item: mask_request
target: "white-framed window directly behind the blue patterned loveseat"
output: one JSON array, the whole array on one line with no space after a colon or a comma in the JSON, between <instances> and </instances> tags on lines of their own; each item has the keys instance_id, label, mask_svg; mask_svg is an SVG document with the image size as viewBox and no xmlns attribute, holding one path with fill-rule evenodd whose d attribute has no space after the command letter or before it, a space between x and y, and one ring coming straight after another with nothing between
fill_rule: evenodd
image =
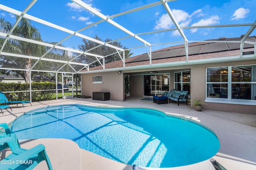
<instances>
[{"instance_id":1,"label":"white-framed window directly behind the blue patterned loveseat","mask_svg":"<svg viewBox=\"0 0 256 170\"><path fill-rule=\"evenodd\" d=\"M190 97L190 71L174 72L174 89L186 90Z\"/></svg>"}]
</instances>

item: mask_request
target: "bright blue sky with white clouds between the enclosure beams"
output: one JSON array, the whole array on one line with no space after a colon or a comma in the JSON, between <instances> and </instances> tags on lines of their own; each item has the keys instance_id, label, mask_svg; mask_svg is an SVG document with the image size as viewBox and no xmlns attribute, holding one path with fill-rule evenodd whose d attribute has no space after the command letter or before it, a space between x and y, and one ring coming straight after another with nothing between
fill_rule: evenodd
<instances>
[{"instance_id":1,"label":"bright blue sky with white clouds between the enclosure beams","mask_svg":"<svg viewBox=\"0 0 256 170\"><path fill-rule=\"evenodd\" d=\"M138 8L146 4L158 2L157 0L84 0L87 4L98 10L105 16L112 16L120 12ZM0 4L23 11L30 0L0 0ZM255 0L177 0L168 2L180 27L198 25L226 25L239 23L254 23L256 20ZM77 6L68 0L38 0L27 12L32 16L60 25L72 31L86 27L100 18ZM15 22L15 16L5 11L0 11L0 17L11 23ZM154 6L124 16L112 18L132 33L144 33L163 29L172 29L174 24L170 20L162 5ZM42 39L47 42L58 42L68 36L68 33L50 28L46 25L32 23L40 30ZM249 27L227 28L201 28L183 29L188 40L207 40L220 37L240 37L246 33ZM254 31L251 35L256 35ZM98 35L102 40L119 39L128 36L113 25L103 22L90 27L80 33L94 37ZM167 31L140 35L141 38L151 44L182 41L177 31ZM143 45L142 42L128 38L120 41L123 46L133 48ZM77 49L82 44L80 37L72 36L62 43L65 47ZM169 47L176 44L154 45L152 50ZM146 53L148 48L134 49L134 55Z\"/></svg>"}]
</instances>

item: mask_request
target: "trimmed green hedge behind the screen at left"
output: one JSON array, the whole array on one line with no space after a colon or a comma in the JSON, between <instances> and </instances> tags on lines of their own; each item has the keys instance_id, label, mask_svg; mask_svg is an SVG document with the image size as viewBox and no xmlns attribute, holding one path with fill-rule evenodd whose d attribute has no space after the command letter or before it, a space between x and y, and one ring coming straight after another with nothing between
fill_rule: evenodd
<instances>
[{"instance_id":1,"label":"trimmed green hedge behind the screen at left","mask_svg":"<svg viewBox=\"0 0 256 170\"><path fill-rule=\"evenodd\" d=\"M56 84L52 82L32 82L31 83L31 90L51 90L55 88L56 88ZM1 83L0 82L1 92L13 92L13 93L5 93L6 98L10 101L30 100L29 92L14 92L14 91L26 91L26 90L29 90L29 83L19 84L19 83ZM55 92L56 92L55 90L32 92L32 101L49 100Z\"/></svg>"}]
</instances>

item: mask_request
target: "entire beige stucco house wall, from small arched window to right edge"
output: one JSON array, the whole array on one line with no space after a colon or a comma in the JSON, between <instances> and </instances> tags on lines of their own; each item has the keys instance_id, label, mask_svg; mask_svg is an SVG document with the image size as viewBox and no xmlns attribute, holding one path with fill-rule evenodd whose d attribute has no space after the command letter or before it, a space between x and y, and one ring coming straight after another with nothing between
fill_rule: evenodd
<instances>
[{"instance_id":1,"label":"entire beige stucco house wall, from small arched window to right edge","mask_svg":"<svg viewBox=\"0 0 256 170\"><path fill-rule=\"evenodd\" d=\"M104 91L110 92L110 100L124 101L124 76L130 74L132 92L130 96L143 96L143 76L147 72L157 70L158 73L170 74L170 90L174 89L174 72L190 70L190 94L191 98L198 98L205 101L205 86L206 86L206 68L207 67L219 67L219 66L233 66L233 65L248 65L256 64L255 60L249 61L235 61L235 62L223 62L223 63L210 63L210 64L193 64L185 66L172 66L162 67L154 69L141 69L130 70L126 73L116 74L116 72L102 72L102 73L90 73L82 74L82 95L91 96L92 92ZM95 75L102 76L102 84L93 84L92 77ZM241 105L241 104L223 104L223 103L211 103L204 106L204 109L228 111L237 113L249 113L256 114L256 106Z\"/></svg>"}]
</instances>

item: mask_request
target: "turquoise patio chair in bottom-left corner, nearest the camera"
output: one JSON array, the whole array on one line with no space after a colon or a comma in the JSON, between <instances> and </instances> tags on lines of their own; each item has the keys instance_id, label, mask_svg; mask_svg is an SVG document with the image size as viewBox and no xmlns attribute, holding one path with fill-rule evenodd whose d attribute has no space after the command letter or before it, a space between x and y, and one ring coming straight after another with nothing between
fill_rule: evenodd
<instances>
[{"instance_id":1,"label":"turquoise patio chair in bottom-left corner, nearest the camera","mask_svg":"<svg viewBox=\"0 0 256 170\"><path fill-rule=\"evenodd\" d=\"M32 170L43 160L46 161L48 169L52 170L52 165L46 154L44 145L39 144L32 149L23 149L16 144L16 141L17 138L14 133L11 133L11 137L0 138L0 144L7 143L12 151L11 154L1 160L3 163L0 164L0 170ZM6 164L4 164L4 162L6 162Z\"/></svg>"}]
</instances>

